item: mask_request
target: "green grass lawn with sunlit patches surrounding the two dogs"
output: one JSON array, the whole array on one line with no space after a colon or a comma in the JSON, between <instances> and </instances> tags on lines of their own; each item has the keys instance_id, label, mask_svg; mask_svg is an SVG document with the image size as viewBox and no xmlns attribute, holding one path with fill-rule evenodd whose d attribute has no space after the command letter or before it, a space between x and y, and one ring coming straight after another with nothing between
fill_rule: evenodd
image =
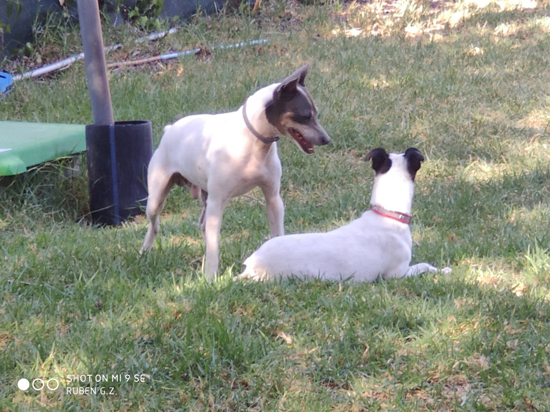
<instances>
[{"instance_id":1,"label":"green grass lawn with sunlit patches surrounding the two dogs","mask_svg":"<svg viewBox=\"0 0 550 412\"><path fill-rule=\"evenodd\" d=\"M550 2L305 3L196 17L148 43L104 26L123 44L109 63L210 51L109 69L116 120L150 120L156 147L165 124L234 110L311 63L332 142L305 155L279 141L285 231L356 218L373 180L361 158L416 147L412 263L452 274L234 283L269 233L255 190L229 203L207 284L188 191L139 256L144 216L87 224L84 158L41 165L0 180L1 411L550 410ZM4 69L80 51L78 27L36 34ZM84 63L15 83L0 120L91 123Z\"/></svg>"}]
</instances>

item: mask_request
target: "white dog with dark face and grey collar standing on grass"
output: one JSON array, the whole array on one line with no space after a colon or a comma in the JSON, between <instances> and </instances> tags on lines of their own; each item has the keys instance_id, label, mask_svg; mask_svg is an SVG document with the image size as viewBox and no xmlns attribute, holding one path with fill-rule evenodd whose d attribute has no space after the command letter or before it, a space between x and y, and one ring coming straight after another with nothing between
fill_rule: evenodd
<instances>
[{"instance_id":1,"label":"white dog with dark face and grey collar standing on grass","mask_svg":"<svg viewBox=\"0 0 550 412\"><path fill-rule=\"evenodd\" d=\"M153 245L164 201L174 185L188 186L191 196L202 198L199 223L206 242L208 280L218 270L218 238L230 198L260 186L271 236L284 234L278 134L290 134L308 154L313 145L330 141L304 84L308 68L256 91L237 111L188 116L164 128L147 171L149 226L141 252Z\"/></svg>"}]
</instances>

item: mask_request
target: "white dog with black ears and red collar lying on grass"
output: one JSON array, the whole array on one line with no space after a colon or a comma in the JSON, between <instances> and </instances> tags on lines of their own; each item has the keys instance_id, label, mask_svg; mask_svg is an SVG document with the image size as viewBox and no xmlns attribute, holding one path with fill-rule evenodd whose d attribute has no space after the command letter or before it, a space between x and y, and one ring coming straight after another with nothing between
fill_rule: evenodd
<instances>
[{"instance_id":1,"label":"white dog with black ears and red collar lying on grass","mask_svg":"<svg viewBox=\"0 0 550 412\"><path fill-rule=\"evenodd\" d=\"M246 259L237 278L268 280L298 277L355 282L415 276L438 269L428 263L409 266L412 238L409 229L414 178L424 156L409 148L404 154L374 149L376 176L372 209L346 226L324 233L274 237ZM444 268L449 273L450 268Z\"/></svg>"}]
</instances>

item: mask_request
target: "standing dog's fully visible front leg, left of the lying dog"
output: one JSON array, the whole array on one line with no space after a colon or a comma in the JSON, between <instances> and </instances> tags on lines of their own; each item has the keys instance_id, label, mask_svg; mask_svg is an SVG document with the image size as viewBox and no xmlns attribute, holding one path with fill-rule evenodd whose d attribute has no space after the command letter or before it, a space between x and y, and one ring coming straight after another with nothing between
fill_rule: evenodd
<instances>
[{"instance_id":1,"label":"standing dog's fully visible front leg, left of the lying dog","mask_svg":"<svg viewBox=\"0 0 550 412\"><path fill-rule=\"evenodd\" d=\"M205 243L206 258L204 273L209 282L215 280L218 272L218 243L219 231L222 228L222 214L227 200L213 199L208 197L205 210Z\"/></svg>"}]
</instances>

